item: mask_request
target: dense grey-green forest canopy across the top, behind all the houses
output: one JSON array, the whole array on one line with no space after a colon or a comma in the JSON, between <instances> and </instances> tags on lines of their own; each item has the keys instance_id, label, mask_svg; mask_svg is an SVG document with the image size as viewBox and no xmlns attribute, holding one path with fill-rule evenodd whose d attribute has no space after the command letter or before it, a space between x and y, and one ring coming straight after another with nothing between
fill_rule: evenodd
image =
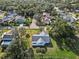
<instances>
[{"instance_id":1,"label":"dense grey-green forest canopy across the top, behind all the houses","mask_svg":"<svg viewBox=\"0 0 79 59\"><path fill-rule=\"evenodd\" d=\"M41 13L43 10L51 13L55 5L63 2L63 0L0 0L0 9L6 11L14 10L25 17L32 17L35 13ZM65 1L67 4L68 2L71 2L71 0Z\"/></svg>"}]
</instances>

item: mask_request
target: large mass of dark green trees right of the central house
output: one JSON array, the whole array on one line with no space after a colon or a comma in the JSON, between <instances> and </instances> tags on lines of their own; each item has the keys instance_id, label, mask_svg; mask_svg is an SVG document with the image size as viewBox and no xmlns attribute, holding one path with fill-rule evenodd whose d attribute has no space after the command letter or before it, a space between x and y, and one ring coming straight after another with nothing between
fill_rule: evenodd
<instances>
[{"instance_id":1,"label":"large mass of dark green trees right of the central house","mask_svg":"<svg viewBox=\"0 0 79 59\"><path fill-rule=\"evenodd\" d=\"M71 50L76 54L79 49L79 38L75 36L75 29L67 22L56 17L51 23L50 36L56 41L58 47L62 50Z\"/></svg>"}]
</instances>

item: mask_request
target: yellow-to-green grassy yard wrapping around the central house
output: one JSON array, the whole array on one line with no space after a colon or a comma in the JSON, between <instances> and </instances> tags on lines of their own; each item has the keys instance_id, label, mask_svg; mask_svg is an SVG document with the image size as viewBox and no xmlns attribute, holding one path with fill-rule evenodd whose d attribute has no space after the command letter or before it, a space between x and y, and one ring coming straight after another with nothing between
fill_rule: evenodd
<instances>
[{"instance_id":1,"label":"yellow-to-green grassy yard wrapping around the central house","mask_svg":"<svg viewBox=\"0 0 79 59\"><path fill-rule=\"evenodd\" d=\"M37 34L40 32L39 29L27 29L26 30L27 33L29 33L30 38L28 40L28 45L29 47L32 47L32 35L33 34ZM46 47L47 48L47 52L45 54L43 54L43 58L54 58L54 59L76 59L76 54L74 54L72 51L67 51L65 50L60 50L59 47L57 46L57 43L55 40L51 39L52 42L52 46L51 47ZM40 54L36 52L36 48L32 47L34 50L34 54L35 54L35 58L39 59L40 58Z\"/></svg>"}]
</instances>

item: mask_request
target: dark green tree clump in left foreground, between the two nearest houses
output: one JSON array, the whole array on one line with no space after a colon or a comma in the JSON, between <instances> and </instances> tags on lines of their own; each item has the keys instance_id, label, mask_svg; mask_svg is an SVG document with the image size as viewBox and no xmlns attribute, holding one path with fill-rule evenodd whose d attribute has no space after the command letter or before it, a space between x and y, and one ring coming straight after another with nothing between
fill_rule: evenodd
<instances>
[{"instance_id":1,"label":"dark green tree clump in left foreground, between the two nearest houses","mask_svg":"<svg viewBox=\"0 0 79 59\"><path fill-rule=\"evenodd\" d=\"M21 29L20 29L21 30ZM29 49L27 49L27 42L25 42L24 38L22 37L23 34L21 32L19 32L19 30L16 30L16 33L14 33L14 40L11 43L11 45L5 50L6 55L4 57L4 59L29 59L31 56L31 54L33 53L31 51L28 51ZM22 34L22 35L21 35ZM27 40L27 39L26 39ZM30 58L32 59L32 58Z\"/></svg>"}]
</instances>

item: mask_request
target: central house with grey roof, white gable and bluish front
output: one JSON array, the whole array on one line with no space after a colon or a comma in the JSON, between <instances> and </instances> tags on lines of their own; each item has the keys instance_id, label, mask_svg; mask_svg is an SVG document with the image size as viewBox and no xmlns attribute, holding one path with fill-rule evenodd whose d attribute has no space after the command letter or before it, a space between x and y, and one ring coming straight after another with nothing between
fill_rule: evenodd
<instances>
[{"instance_id":1,"label":"central house with grey roof, white gable and bluish front","mask_svg":"<svg viewBox=\"0 0 79 59\"><path fill-rule=\"evenodd\" d=\"M48 34L40 33L32 36L32 46L46 46L48 44L50 44Z\"/></svg>"}]
</instances>

